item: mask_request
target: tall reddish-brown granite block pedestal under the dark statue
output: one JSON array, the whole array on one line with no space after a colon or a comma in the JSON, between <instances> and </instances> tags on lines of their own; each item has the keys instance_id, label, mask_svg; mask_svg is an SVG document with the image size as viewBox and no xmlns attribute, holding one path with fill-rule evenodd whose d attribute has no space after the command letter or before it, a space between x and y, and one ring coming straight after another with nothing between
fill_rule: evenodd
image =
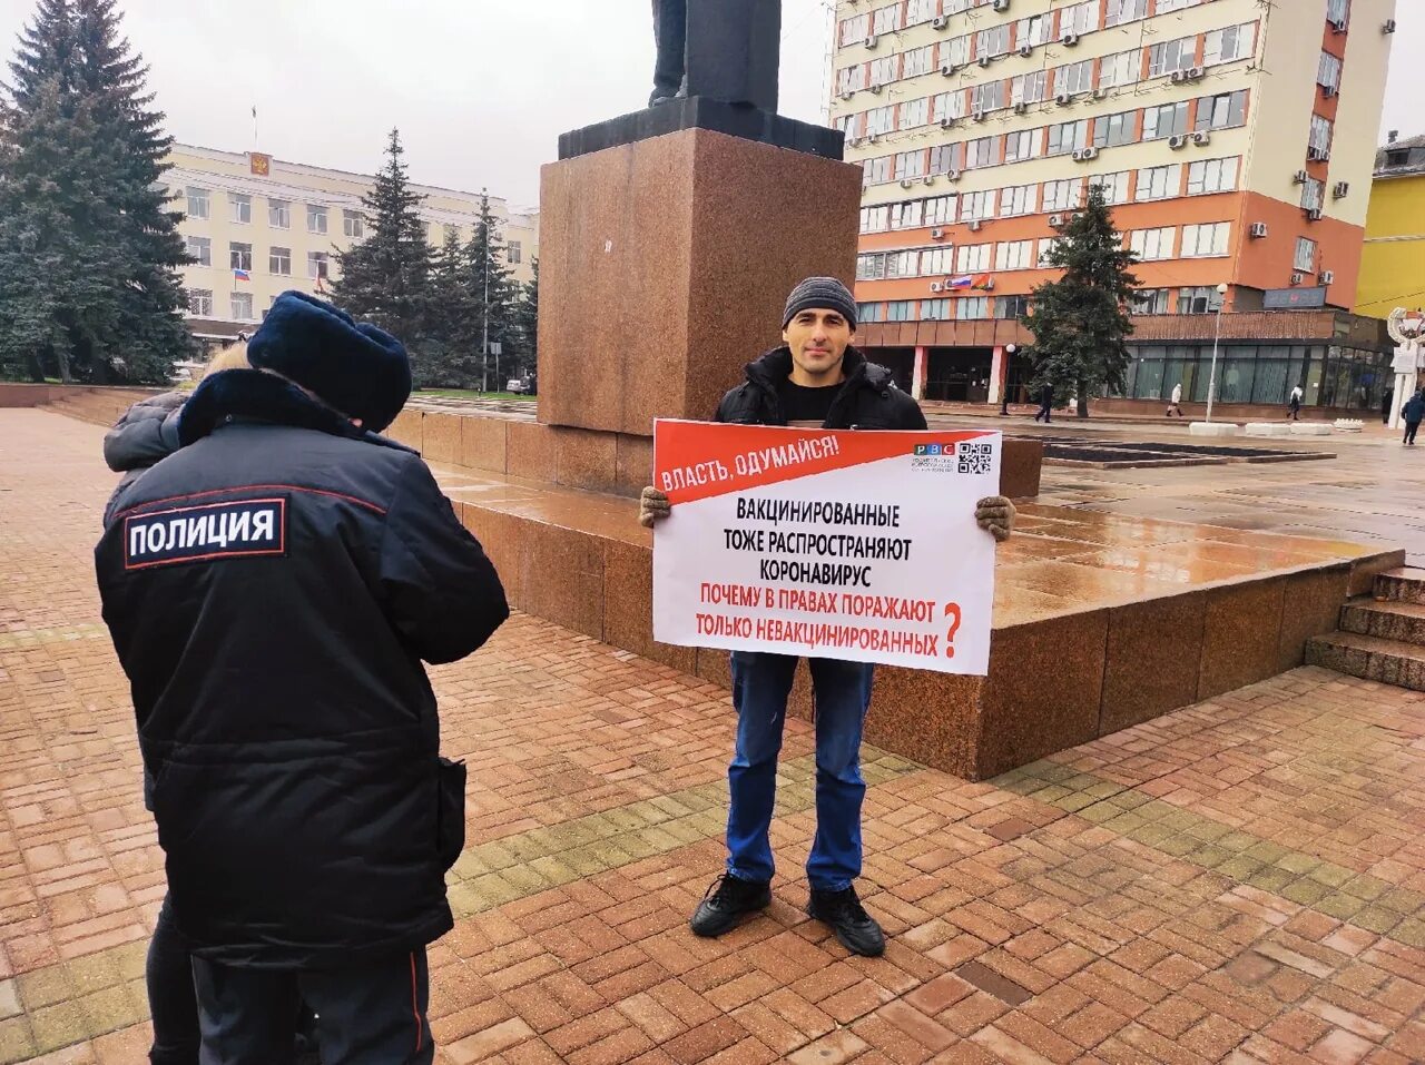
<instances>
[{"instance_id":1,"label":"tall reddish-brown granite block pedestal under the dark statue","mask_svg":"<svg viewBox=\"0 0 1425 1065\"><path fill-rule=\"evenodd\" d=\"M550 164L540 204L539 420L651 436L779 343L798 280L852 278L861 171L693 128Z\"/></svg>"}]
</instances>

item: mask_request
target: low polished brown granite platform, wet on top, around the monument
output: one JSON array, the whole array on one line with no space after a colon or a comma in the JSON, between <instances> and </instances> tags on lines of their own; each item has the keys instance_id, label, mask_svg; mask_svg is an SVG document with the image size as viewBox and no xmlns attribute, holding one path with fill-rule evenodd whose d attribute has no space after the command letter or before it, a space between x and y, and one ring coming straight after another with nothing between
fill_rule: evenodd
<instances>
[{"instance_id":1,"label":"low polished brown granite platform, wet on top, around the monument","mask_svg":"<svg viewBox=\"0 0 1425 1065\"><path fill-rule=\"evenodd\" d=\"M408 411L392 431L425 451L517 608L731 685L725 652L653 639L653 535L633 501L557 483L590 480L590 453L603 456L597 476L617 480L623 454L627 490L651 456L621 453L633 444L614 434L596 443L603 434L519 420ZM1019 466L1006 460L1006 474ZM1022 504L996 552L989 676L882 668L866 738L966 779L995 776L1301 665L1307 641L1402 558ZM792 710L811 715L805 665Z\"/></svg>"}]
</instances>

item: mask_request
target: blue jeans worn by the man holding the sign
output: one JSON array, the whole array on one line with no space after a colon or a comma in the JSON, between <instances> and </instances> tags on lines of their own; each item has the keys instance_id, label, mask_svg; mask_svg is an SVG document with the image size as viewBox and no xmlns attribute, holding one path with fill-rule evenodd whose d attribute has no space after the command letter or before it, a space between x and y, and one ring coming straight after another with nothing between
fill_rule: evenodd
<instances>
[{"instance_id":1,"label":"blue jeans worn by the man holding the sign","mask_svg":"<svg viewBox=\"0 0 1425 1065\"><path fill-rule=\"evenodd\" d=\"M817 837L807 878L817 891L841 891L861 876L861 729L871 706L868 662L811 658L817 706ZM772 806L777 756L782 749L787 696L797 672L794 655L732 652L737 753L727 770L727 871L738 880L772 878Z\"/></svg>"}]
</instances>

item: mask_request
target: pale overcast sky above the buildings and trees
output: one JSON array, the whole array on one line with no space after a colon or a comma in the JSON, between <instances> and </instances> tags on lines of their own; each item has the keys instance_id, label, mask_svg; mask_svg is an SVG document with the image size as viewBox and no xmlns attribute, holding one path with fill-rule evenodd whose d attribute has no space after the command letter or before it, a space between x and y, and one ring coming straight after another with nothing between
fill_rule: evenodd
<instances>
[{"instance_id":1,"label":"pale overcast sky above the buildings and trees","mask_svg":"<svg viewBox=\"0 0 1425 1065\"><path fill-rule=\"evenodd\" d=\"M653 71L648 0L121 0L180 141L370 172L399 127L415 181L539 201L560 132L634 111ZM1425 132L1425 3L1401 28L1381 130ZM0 0L0 41L33 0ZM782 114L819 121L831 4L784 0ZM1364 27L1361 27L1364 28ZM1359 31L1359 30L1358 30ZM1414 58L1412 58L1414 57ZM1384 135L1382 135L1384 140Z\"/></svg>"}]
</instances>

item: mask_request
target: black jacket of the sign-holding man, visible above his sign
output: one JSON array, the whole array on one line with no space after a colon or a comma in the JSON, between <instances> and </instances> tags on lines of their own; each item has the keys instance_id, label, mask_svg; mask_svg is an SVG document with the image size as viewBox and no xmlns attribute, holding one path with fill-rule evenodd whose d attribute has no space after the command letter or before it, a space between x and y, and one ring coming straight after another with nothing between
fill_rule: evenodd
<instances>
[{"instance_id":1,"label":"black jacket of the sign-holding man, visible above his sign","mask_svg":"<svg viewBox=\"0 0 1425 1065\"><path fill-rule=\"evenodd\" d=\"M855 347L842 363L846 380L831 404L824 429L925 429L921 404L892 383L891 370L866 362ZM747 364L747 380L718 403L717 421L742 426L785 426L777 386L792 372L792 353L777 347Z\"/></svg>"}]
</instances>

